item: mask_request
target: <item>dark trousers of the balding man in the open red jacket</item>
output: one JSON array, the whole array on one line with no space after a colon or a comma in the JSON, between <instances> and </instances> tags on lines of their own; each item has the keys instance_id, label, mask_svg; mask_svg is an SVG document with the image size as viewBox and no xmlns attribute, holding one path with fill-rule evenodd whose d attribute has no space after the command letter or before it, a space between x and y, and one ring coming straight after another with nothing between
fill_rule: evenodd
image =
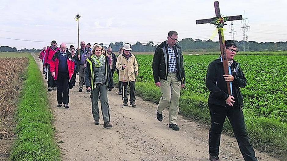
<instances>
[{"instance_id":1,"label":"dark trousers of the balding man in the open red jacket","mask_svg":"<svg viewBox=\"0 0 287 161\"><path fill-rule=\"evenodd\" d=\"M68 104L69 103L69 74L68 73L58 73L57 84L57 101L58 104Z\"/></svg>"}]
</instances>

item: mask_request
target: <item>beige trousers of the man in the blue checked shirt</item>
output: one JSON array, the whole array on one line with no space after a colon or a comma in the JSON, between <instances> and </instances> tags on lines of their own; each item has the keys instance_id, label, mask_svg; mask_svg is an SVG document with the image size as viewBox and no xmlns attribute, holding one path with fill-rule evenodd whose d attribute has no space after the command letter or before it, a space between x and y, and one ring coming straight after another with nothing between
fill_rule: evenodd
<instances>
[{"instance_id":1,"label":"beige trousers of the man in the blue checked shirt","mask_svg":"<svg viewBox=\"0 0 287 161\"><path fill-rule=\"evenodd\" d=\"M169 123L177 124L181 86L180 81L177 79L176 73L168 73L167 79L161 79L160 83L162 97L159 100L157 111L158 113L162 113L165 108L169 109Z\"/></svg>"}]
</instances>

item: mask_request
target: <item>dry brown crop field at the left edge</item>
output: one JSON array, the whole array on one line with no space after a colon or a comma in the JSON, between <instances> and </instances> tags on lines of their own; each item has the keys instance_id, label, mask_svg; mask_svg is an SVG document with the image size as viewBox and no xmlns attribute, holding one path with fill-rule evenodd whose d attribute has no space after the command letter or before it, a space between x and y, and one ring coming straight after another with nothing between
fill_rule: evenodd
<instances>
[{"instance_id":1,"label":"dry brown crop field at the left edge","mask_svg":"<svg viewBox=\"0 0 287 161\"><path fill-rule=\"evenodd\" d=\"M0 160L8 156L15 127L14 111L28 58L0 58Z\"/></svg>"}]
</instances>

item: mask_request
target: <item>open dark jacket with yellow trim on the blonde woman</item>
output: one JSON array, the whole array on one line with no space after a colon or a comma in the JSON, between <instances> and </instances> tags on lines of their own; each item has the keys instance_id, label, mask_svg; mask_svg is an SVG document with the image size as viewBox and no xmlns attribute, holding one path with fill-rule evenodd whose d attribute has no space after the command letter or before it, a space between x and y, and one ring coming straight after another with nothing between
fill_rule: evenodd
<instances>
[{"instance_id":1,"label":"open dark jacket with yellow trim on the blonde woman","mask_svg":"<svg viewBox=\"0 0 287 161\"><path fill-rule=\"evenodd\" d=\"M113 83L113 76L111 73L111 68L109 66L109 60L106 57L106 63L105 63L105 81L106 81L106 88L114 88L114 83ZM93 67L94 67L94 62L91 57L87 58L87 67L85 68L85 84L86 88L91 87L93 90L96 88L96 81L94 78L94 73L93 73ZM92 77L93 76L93 77Z\"/></svg>"}]
</instances>

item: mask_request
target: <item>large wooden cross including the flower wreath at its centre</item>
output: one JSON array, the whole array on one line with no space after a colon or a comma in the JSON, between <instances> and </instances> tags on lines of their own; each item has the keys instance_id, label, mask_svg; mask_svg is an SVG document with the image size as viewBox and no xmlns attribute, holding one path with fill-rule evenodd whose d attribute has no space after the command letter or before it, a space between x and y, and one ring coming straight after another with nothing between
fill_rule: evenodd
<instances>
[{"instance_id":1,"label":"large wooden cross including the flower wreath at its centre","mask_svg":"<svg viewBox=\"0 0 287 161\"><path fill-rule=\"evenodd\" d=\"M216 26L219 35L219 44L220 44L220 51L223 63L223 69L225 74L229 74L228 71L228 60L226 57L226 48L225 48L225 40L223 35L223 26L226 25L226 21L233 21L233 20L242 20L242 16L221 16L220 9L219 9L219 2L214 2L214 9L215 9L215 17L211 19L203 19L203 20L196 20L196 24L203 24L203 23L212 23ZM228 94L231 95L230 83L226 82Z\"/></svg>"}]
</instances>

